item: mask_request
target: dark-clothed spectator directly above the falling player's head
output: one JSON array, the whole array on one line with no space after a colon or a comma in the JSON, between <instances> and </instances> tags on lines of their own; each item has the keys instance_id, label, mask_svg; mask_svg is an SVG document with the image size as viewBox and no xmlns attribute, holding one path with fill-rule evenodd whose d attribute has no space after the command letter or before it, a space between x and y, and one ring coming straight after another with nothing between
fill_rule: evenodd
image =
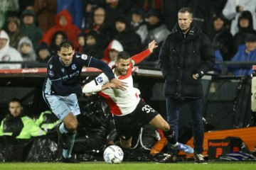
<instances>
[{"instance_id":1,"label":"dark-clothed spectator directly above the falling player's head","mask_svg":"<svg viewBox=\"0 0 256 170\"><path fill-rule=\"evenodd\" d=\"M135 55L142 49L139 35L131 29L125 16L119 16L115 21L114 39L118 40L124 47L124 51L130 55Z\"/></svg>"}]
</instances>

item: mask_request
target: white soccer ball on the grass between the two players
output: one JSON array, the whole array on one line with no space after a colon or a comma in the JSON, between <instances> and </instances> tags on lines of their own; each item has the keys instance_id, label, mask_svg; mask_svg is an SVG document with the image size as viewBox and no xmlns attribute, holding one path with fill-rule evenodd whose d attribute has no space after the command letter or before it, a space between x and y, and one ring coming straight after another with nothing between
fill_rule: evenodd
<instances>
[{"instance_id":1,"label":"white soccer ball on the grass between the two players","mask_svg":"<svg viewBox=\"0 0 256 170\"><path fill-rule=\"evenodd\" d=\"M103 157L108 164L119 164L124 158L124 152L117 145L111 145L105 149Z\"/></svg>"}]
</instances>

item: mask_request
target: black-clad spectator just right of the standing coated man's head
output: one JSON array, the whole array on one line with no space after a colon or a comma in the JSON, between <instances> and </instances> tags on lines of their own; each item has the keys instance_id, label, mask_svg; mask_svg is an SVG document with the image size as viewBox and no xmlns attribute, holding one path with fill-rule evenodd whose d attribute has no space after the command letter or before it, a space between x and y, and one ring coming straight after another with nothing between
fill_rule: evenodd
<instances>
[{"instance_id":1,"label":"black-clad spectator just right of the standing coated man's head","mask_svg":"<svg viewBox=\"0 0 256 170\"><path fill-rule=\"evenodd\" d=\"M233 35L227 29L226 23L221 15L213 18L213 30L208 37L213 42L214 50L219 50L223 60L229 61L233 56Z\"/></svg>"}]
</instances>

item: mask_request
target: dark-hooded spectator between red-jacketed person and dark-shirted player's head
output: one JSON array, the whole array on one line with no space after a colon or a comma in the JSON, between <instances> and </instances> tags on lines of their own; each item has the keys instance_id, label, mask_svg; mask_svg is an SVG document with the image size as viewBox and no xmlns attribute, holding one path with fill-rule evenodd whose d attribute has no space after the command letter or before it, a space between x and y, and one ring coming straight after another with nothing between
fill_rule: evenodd
<instances>
[{"instance_id":1,"label":"dark-hooded spectator between red-jacketed person and dark-shirted player's head","mask_svg":"<svg viewBox=\"0 0 256 170\"><path fill-rule=\"evenodd\" d=\"M67 35L61 30L57 30L53 34L53 38L50 41L50 46L49 46L50 55L56 54L56 52L58 51L58 45L60 45L60 42L65 39L67 39ZM43 43L46 43L46 42L43 42ZM47 45L47 43L46 43L46 45Z\"/></svg>"}]
</instances>

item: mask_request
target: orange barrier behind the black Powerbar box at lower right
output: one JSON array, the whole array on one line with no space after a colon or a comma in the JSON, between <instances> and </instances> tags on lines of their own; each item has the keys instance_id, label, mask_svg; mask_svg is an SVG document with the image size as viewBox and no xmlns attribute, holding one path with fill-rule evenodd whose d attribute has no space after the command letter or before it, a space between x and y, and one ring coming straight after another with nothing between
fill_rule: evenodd
<instances>
[{"instance_id":1,"label":"orange barrier behind the black Powerbar box at lower right","mask_svg":"<svg viewBox=\"0 0 256 170\"><path fill-rule=\"evenodd\" d=\"M233 130L218 130L213 132L205 132L204 140L203 140L203 155L208 155L208 140L218 140L225 139L226 137L240 137L245 145L253 151L256 147L256 127L252 128L240 128ZM193 147L193 137L186 143ZM179 155L184 155L183 153L179 153ZM193 154L186 154L186 157L193 157Z\"/></svg>"}]
</instances>

